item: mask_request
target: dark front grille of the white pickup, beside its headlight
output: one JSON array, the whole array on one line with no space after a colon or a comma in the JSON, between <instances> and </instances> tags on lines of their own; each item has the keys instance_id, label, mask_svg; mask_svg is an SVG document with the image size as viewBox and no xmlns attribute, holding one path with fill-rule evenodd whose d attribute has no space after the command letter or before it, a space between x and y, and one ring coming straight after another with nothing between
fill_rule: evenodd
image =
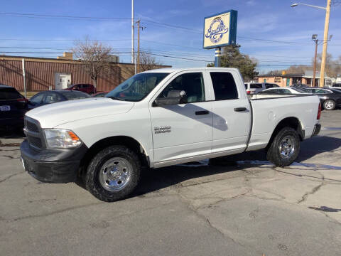
<instances>
[{"instance_id":1,"label":"dark front grille of the white pickup, beside its headlight","mask_svg":"<svg viewBox=\"0 0 341 256\"><path fill-rule=\"evenodd\" d=\"M40 129L40 124L35 119L25 117L25 134L28 144L34 149L43 149L43 134Z\"/></svg>"}]
</instances>

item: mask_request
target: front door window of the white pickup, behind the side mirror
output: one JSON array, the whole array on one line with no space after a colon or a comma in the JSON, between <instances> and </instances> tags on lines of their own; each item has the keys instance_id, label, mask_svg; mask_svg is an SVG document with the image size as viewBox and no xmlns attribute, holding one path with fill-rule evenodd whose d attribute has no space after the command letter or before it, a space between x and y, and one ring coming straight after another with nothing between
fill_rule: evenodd
<instances>
[{"instance_id":1,"label":"front door window of the white pickup, behind the side mirror","mask_svg":"<svg viewBox=\"0 0 341 256\"><path fill-rule=\"evenodd\" d=\"M205 101L205 85L202 73L185 73L176 77L158 97L167 97L171 90L184 90L187 102Z\"/></svg>"}]
</instances>

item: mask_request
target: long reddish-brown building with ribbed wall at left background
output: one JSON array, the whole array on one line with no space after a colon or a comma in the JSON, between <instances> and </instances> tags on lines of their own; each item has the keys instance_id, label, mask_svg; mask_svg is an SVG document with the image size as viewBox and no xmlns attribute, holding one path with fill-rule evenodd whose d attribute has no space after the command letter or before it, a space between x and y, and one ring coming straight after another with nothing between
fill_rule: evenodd
<instances>
[{"instance_id":1,"label":"long reddish-brown building with ribbed wall at left background","mask_svg":"<svg viewBox=\"0 0 341 256\"><path fill-rule=\"evenodd\" d=\"M99 75L97 79L99 91L112 90L134 75L133 64L118 63L117 56L113 56L112 59L110 75ZM158 66L158 68L168 67ZM28 91L60 90L72 84L93 83L90 75L82 68L82 61L73 60L72 53L65 53L57 59L1 55L0 84L10 85L23 91L23 68Z\"/></svg>"}]
</instances>

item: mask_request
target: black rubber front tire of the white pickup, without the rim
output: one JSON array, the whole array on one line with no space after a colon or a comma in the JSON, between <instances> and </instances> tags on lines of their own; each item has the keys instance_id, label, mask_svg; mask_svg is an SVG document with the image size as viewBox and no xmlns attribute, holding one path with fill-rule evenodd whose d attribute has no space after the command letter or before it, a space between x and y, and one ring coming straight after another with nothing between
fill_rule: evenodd
<instances>
[{"instance_id":1,"label":"black rubber front tire of the white pickup, without the rim","mask_svg":"<svg viewBox=\"0 0 341 256\"><path fill-rule=\"evenodd\" d=\"M126 181L126 185L119 191L108 191L102 186L99 175L102 166L107 161L114 158L124 159L129 162L131 170L129 169L130 178ZM104 170L105 171L105 170ZM114 202L128 197L136 188L141 176L141 162L134 151L126 146L108 146L106 149L99 151L90 161L87 167L87 174L85 178L85 186L92 195L101 201Z\"/></svg>"}]
</instances>

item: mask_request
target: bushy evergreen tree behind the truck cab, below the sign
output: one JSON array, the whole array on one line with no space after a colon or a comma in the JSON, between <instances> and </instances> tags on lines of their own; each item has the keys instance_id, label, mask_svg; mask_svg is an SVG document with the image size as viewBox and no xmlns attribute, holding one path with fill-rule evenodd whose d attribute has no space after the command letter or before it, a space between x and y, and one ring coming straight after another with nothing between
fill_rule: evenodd
<instances>
[{"instance_id":1,"label":"bushy evergreen tree behind the truck cab, below the sign","mask_svg":"<svg viewBox=\"0 0 341 256\"><path fill-rule=\"evenodd\" d=\"M257 61L249 55L240 53L240 46L224 46L222 48L221 66L224 68L238 68L244 80L252 80L259 73L256 71ZM207 67L214 67L210 63Z\"/></svg>"}]
</instances>

